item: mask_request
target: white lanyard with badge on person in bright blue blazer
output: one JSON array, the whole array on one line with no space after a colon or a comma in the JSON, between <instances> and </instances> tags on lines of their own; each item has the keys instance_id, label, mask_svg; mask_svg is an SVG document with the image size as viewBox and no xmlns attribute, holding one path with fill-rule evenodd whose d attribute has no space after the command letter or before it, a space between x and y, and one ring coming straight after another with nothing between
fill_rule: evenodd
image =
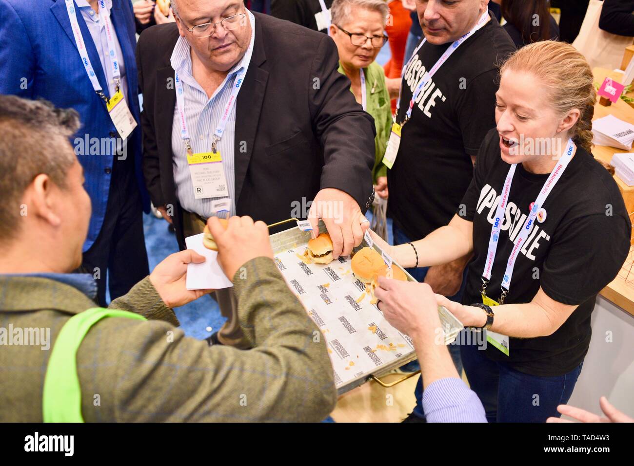
<instances>
[{"instance_id":1,"label":"white lanyard with badge on person in bright blue blazer","mask_svg":"<svg viewBox=\"0 0 634 466\"><path fill-rule=\"evenodd\" d=\"M120 66L119 66L119 57L117 56L117 51L115 49L115 38L114 38L114 29L112 27L112 22L110 22L110 10L106 7L105 0L100 0L100 18L104 23L106 28L106 38L108 42L108 61L110 61L110 66L112 68L112 76L115 79L116 90L115 94L110 98L103 93L103 88L101 84L99 84L99 80L97 79L97 75L94 72L93 65L88 56L88 51L86 49L86 42L84 41L84 37L82 36L81 29L79 28L79 21L77 20L77 10L75 9L75 4L73 0L65 0L66 10L68 13L68 20L70 20L70 25L73 30L73 36L75 37L75 44L77 45L77 50L79 51L79 56L81 56L81 61L84 64L84 69L88 75L88 79L93 85L94 92L98 96L100 96L103 101L105 101L108 113L110 114L110 118L112 118L112 122L117 129L120 137L126 139L136 128L136 121L134 120L134 116L130 113L129 108L127 108L126 99L124 95L120 91Z\"/></svg>"}]
</instances>

